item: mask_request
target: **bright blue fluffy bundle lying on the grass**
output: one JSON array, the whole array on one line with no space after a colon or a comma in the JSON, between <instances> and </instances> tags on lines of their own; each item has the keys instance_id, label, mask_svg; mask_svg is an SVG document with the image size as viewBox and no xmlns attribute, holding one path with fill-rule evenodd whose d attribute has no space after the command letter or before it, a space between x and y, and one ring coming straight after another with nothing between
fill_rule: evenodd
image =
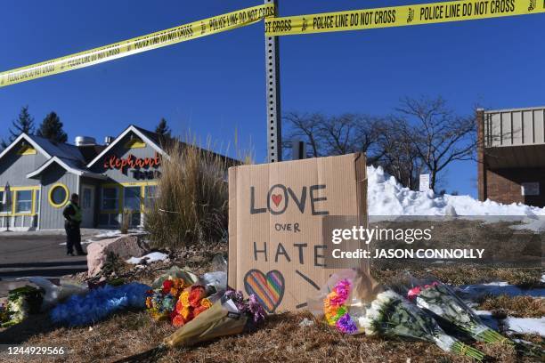
<instances>
[{"instance_id":1,"label":"bright blue fluffy bundle lying on the grass","mask_svg":"<svg viewBox=\"0 0 545 363\"><path fill-rule=\"evenodd\" d=\"M69 327L91 325L118 311L141 310L145 307L150 286L130 283L122 286L101 286L85 295L73 295L50 313L54 323Z\"/></svg>"}]
</instances>

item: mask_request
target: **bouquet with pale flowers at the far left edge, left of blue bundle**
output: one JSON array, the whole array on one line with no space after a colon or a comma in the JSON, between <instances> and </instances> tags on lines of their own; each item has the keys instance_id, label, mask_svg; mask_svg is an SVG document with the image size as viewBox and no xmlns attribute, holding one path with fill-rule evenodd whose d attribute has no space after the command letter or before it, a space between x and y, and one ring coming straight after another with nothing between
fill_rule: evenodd
<instances>
[{"instance_id":1,"label":"bouquet with pale flowers at the far left edge, left of blue bundle","mask_svg":"<svg viewBox=\"0 0 545 363\"><path fill-rule=\"evenodd\" d=\"M10 290L8 293L8 303L0 311L2 319L1 327L11 327L19 324L28 318L28 314L35 314L40 311L43 301L42 290L33 286L22 286Z\"/></svg>"}]
</instances>

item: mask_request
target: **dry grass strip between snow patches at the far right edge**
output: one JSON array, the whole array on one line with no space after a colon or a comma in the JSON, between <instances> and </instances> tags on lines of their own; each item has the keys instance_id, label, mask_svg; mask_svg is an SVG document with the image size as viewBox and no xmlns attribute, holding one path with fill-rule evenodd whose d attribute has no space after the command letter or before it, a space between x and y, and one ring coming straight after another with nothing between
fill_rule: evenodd
<instances>
[{"instance_id":1,"label":"dry grass strip between snow patches at the far right edge","mask_svg":"<svg viewBox=\"0 0 545 363\"><path fill-rule=\"evenodd\" d=\"M487 296L479 304L478 309L492 311L494 315L541 318L545 317L545 300L532 296Z\"/></svg>"}]
</instances>

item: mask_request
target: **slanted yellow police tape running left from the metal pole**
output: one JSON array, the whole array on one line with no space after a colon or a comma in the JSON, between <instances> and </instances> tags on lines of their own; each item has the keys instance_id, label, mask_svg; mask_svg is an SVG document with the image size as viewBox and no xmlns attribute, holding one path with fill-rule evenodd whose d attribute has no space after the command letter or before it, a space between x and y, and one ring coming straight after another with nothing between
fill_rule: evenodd
<instances>
[{"instance_id":1,"label":"slanted yellow police tape running left from the metal pole","mask_svg":"<svg viewBox=\"0 0 545 363\"><path fill-rule=\"evenodd\" d=\"M168 28L146 36L138 36L122 42L104 45L89 51L78 52L27 67L8 70L0 73L0 87L67 72L72 69L89 67L138 52L150 51L161 46L244 27L256 23L265 17L272 17L274 16L274 12L274 4L249 7L237 12L228 12L205 20L198 20L175 28Z\"/></svg>"}]
</instances>

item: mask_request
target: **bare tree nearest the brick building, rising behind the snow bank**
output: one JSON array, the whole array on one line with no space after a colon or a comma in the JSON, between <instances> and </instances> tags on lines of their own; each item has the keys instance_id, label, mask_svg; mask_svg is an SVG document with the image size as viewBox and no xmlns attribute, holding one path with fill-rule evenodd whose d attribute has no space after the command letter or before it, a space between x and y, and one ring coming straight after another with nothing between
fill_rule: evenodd
<instances>
[{"instance_id":1,"label":"bare tree nearest the brick building, rising behind the snow bank","mask_svg":"<svg viewBox=\"0 0 545 363\"><path fill-rule=\"evenodd\" d=\"M441 97L404 98L397 109L405 118L405 140L418 151L435 189L437 175L455 160L476 158L476 119L460 117Z\"/></svg>"}]
</instances>

